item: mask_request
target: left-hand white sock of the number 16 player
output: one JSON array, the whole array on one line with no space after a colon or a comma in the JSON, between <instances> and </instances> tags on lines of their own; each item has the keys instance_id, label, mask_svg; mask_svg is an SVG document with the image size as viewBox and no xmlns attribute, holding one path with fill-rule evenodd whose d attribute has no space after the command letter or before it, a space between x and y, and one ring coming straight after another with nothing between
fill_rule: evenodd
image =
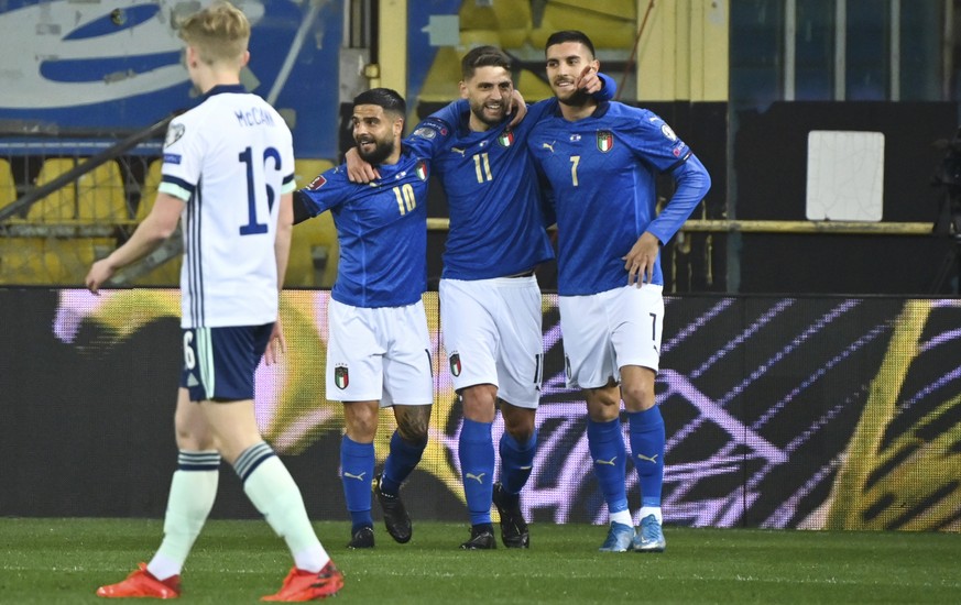
<instances>
[{"instance_id":1,"label":"left-hand white sock of the number 16 player","mask_svg":"<svg viewBox=\"0 0 961 605\"><path fill-rule=\"evenodd\" d=\"M181 573L217 498L219 453L182 451L177 463L164 515L164 539L146 566L157 580Z\"/></svg>"}]
</instances>

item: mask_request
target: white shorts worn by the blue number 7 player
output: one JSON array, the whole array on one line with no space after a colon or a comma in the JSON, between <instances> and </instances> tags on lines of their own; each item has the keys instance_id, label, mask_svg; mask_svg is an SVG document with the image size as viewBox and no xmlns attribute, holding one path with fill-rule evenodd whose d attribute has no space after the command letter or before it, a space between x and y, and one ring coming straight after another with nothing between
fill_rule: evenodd
<instances>
[{"instance_id":1,"label":"white shorts worn by the blue number 7 player","mask_svg":"<svg viewBox=\"0 0 961 605\"><path fill-rule=\"evenodd\" d=\"M560 330L568 388L621 382L621 367L657 372L664 326L663 286L624 286L588 296L561 296Z\"/></svg>"}]
</instances>

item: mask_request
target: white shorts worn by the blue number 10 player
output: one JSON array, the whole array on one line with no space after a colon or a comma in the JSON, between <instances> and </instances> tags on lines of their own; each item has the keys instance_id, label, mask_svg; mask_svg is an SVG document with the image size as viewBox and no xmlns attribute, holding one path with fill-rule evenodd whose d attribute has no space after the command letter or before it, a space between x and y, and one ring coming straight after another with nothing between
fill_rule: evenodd
<instances>
[{"instance_id":1,"label":"white shorts worn by the blue number 10 player","mask_svg":"<svg viewBox=\"0 0 961 605\"><path fill-rule=\"evenodd\" d=\"M424 304L367 309L327 306L327 399L423 406L434 403Z\"/></svg>"}]
</instances>

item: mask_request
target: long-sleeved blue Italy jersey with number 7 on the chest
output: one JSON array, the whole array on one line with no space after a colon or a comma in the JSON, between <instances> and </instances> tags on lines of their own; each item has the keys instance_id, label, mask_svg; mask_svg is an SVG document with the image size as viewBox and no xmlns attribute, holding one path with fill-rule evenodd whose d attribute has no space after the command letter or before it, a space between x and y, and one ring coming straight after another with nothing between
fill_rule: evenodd
<instances>
[{"instance_id":1,"label":"long-sleeved blue Italy jersey with number 7 on the chest","mask_svg":"<svg viewBox=\"0 0 961 605\"><path fill-rule=\"evenodd\" d=\"M555 103L527 144L557 215L558 293L580 296L627 285L624 255L645 231L667 242L707 194L710 177L664 120L645 109L602 102L569 122ZM675 195L658 216L656 177ZM664 284L658 256L653 284Z\"/></svg>"}]
</instances>

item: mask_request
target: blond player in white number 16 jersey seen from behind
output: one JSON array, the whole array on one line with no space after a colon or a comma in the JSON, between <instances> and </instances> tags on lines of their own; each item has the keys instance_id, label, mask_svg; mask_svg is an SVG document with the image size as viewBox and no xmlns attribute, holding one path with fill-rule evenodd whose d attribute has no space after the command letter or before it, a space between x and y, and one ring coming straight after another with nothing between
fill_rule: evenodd
<instances>
[{"instance_id":1,"label":"blond player in white number 16 jersey seen from behind","mask_svg":"<svg viewBox=\"0 0 961 605\"><path fill-rule=\"evenodd\" d=\"M203 102L174 119L164 143L156 201L130 240L86 278L97 293L113 273L155 250L182 221L184 370L175 414L178 466L164 539L148 564L98 596L173 598L184 562L214 505L220 460L287 543L294 568L264 601L308 601L337 593L343 575L314 532L304 501L260 435L254 371L276 361L277 316L293 224L291 131L263 99L240 85L250 58L250 23L214 4L179 24L185 63Z\"/></svg>"}]
</instances>

